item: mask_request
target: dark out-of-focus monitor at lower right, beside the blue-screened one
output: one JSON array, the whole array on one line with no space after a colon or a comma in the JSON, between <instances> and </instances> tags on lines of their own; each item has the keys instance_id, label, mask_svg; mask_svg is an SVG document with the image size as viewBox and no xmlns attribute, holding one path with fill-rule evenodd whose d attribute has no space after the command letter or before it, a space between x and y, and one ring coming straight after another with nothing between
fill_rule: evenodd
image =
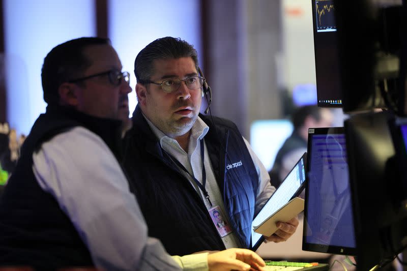
<instances>
[{"instance_id":1,"label":"dark out-of-focus monitor at lower right, beside the blue-screened one","mask_svg":"<svg viewBox=\"0 0 407 271\"><path fill-rule=\"evenodd\" d=\"M397 169L389 126L393 122L388 111L356 114L345 121L358 270L386 265L407 244L407 212L400 197L405 178Z\"/></svg>"}]
</instances>

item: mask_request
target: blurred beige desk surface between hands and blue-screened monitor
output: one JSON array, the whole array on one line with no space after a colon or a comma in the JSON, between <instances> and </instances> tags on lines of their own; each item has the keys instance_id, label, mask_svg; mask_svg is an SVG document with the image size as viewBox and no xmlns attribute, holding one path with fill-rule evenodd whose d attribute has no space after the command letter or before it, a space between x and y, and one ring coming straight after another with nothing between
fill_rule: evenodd
<instances>
[{"instance_id":1,"label":"blurred beige desk surface between hands and blue-screened monitor","mask_svg":"<svg viewBox=\"0 0 407 271\"><path fill-rule=\"evenodd\" d=\"M326 259L327 253L309 252L302 250L302 231L304 220L299 219L300 224L296 232L286 242L263 243L257 249L257 254L263 259Z\"/></svg>"}]
</instances>

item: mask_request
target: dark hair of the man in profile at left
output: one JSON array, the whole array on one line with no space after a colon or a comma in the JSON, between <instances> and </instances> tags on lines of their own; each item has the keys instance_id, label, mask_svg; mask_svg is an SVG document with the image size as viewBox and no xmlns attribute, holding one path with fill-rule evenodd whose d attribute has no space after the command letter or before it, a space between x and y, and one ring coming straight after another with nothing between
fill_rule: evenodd
<instances>
[{"instance_id":1,"label":"dark hair of the man in profile at left","mask_svg":"<svg viewBox=\"0 0 407 271\"><path fill-rule=\"evenodd\" d=\"M109 39L84 37L70 40L55 46L45 56L41 69L44 101L47 104L58 104L58 87L69 80L79 77L92 65L83 55L83 49L91 45L110 45Z\"/></svg>"}]
</instances>

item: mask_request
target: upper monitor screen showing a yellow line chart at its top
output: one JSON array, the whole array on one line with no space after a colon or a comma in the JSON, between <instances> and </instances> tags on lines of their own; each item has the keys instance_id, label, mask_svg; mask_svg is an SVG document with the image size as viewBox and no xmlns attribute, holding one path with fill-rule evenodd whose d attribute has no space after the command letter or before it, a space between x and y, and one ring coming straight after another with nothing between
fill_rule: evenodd
<instances>
[{"instance_id":1,"label":"upper monitor screen showing a yellow line chart at its top","mask_svg":"<svg viewBox=\"0 0 407 271\"><path fill-rule=\"evenodd\" d=\"M317 105L341 107L337 33L333 0L311 0Z\"/></svg>"}]
</instances>

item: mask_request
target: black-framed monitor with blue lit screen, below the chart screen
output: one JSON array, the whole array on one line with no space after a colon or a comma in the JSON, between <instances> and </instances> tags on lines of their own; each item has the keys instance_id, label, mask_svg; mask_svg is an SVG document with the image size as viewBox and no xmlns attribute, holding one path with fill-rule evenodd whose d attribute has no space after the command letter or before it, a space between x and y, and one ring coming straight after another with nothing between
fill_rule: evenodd
<instances>
[{"instance_id":1,"label":"black-framed monitor with blue lit screen, below the chart screen","mask_svg":"<svg viewBox=\"0 0 407 271\"><path fill-rule=\"evenodd\" d=\"M302 249L356 254L343 127L308 129Z\"/></svg>"}]
</instances>

